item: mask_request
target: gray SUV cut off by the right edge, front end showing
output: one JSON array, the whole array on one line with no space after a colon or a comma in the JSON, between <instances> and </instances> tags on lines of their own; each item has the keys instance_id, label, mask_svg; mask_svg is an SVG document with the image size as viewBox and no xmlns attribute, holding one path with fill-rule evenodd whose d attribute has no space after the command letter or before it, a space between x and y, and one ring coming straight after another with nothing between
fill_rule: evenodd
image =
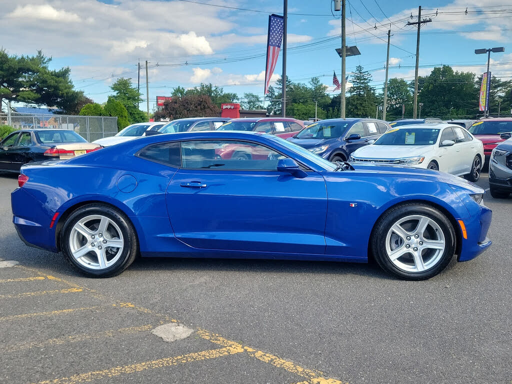
<instances>
[{"instance_id":1,"label":"gray SUV cut off by the right edge, front end showing","mask_svg":"<svg viewBox=\"0 0 512 384\"><path fill-rule=\"evenodd\" d=\"M502 139L490 155L490 196L505 199L512 193L512 139L510 133L501 134Z\"/></svg>"}]
</instances>

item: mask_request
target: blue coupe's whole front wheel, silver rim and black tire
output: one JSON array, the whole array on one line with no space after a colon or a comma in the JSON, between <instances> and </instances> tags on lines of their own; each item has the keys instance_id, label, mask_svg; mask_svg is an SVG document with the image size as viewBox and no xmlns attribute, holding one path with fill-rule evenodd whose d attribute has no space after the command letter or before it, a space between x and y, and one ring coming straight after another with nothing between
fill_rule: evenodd
<instances>
[{"instance_id":1,"label":"blue coupe's whole front wheel, silver rim and black tire","mask_svg":"<svg viewBox=\"0 0 512 384\"><path fill-rule=\"evenodd\" d=\"M372 232L380 267L400 279L425 280L441 272L455 253L450 220L430 205L410 203L388 210Z\"/></svg>"}]
</instances>

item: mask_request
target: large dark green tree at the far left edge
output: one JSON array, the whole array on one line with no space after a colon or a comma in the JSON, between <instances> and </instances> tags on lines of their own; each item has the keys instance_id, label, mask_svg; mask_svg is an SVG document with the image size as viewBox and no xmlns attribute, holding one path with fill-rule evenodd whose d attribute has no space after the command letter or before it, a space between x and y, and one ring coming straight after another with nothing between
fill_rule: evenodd
<instances>
[{"instance_id":1,"label":"large dark green tree at the far left edge","mask_svg":"<svg viewBox=\"0 0 512 384\"><path fill-rule=\"evenodd\" d=\"M51 57L41 51L35 56L10 56L0 50L0 105L3 99L56 106L67 111L76 103L70 69L48 68Z\"/></svg>"}]
</instances>

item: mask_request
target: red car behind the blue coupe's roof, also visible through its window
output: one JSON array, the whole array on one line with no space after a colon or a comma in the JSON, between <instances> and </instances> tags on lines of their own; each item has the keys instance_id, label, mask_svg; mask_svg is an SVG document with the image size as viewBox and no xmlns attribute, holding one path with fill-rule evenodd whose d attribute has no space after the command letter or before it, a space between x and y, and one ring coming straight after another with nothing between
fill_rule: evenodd
<instances>
[{"instance_id":1,"label":"red car behind the blue coupe's roof, also visible through its window","mask_svg":"<svg viewBox=\"0 0 512 384\"><path fill-rule=\"evenodd\" d=\"M218 127L217 131L263 132L287 139L297 134L302 129L304 129L304 122L301 120L295 120L287 117L246 117L229 120ZM244 151L240 151L240 147L240 145L227 144L216 150L216 155L222 159L267 159L267 153L258 153L255 148L250 146L247 146L246 148L244 147ZM238 148L238 150L236 150L236 148Z\"/></svg>"}]
</instances>

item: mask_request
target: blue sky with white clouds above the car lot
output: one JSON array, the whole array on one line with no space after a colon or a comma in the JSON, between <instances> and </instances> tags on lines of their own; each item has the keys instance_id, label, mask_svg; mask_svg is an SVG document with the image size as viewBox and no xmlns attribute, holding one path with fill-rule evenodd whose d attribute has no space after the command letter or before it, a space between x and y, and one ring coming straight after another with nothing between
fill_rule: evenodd
<instances>
[{"instance_id":1,"label":"blue sky with white clouds above the car lot","mask_svg":"<svg viewBox=\"0 0 512 384\"><path fill-rule=\"evenodd\" d=\"M504 0L432 0L423 4L419 74L447 64L477 74L486 70L478 48L505 47L491 56L491 71L512 78L512 5ZM347 58L347 74L361 65L381 92L385 79L387 33L391 28L389 76L414 79L418 6L412 1L349 0L347 46L360 56ZM239 8L239 9L233 9ZM263 98L268 15L282 14L275 0L0 0L0 47L10 54L53 58L51 68L70 67L76 89L105 102L119 77L137 85L146 98L148 61L150 110L156 96L201 82L243 98ZM413 18L411 18L411 15ZM331 0L289 0L287 75L307 83L319 77L332 92L332 75L341 76L340 12ZM272 82L279 79L281 58ZM337 91L339 93L339 91ZM145 110L145 101L141 103Z\"/></svg>"}]
</instances>

